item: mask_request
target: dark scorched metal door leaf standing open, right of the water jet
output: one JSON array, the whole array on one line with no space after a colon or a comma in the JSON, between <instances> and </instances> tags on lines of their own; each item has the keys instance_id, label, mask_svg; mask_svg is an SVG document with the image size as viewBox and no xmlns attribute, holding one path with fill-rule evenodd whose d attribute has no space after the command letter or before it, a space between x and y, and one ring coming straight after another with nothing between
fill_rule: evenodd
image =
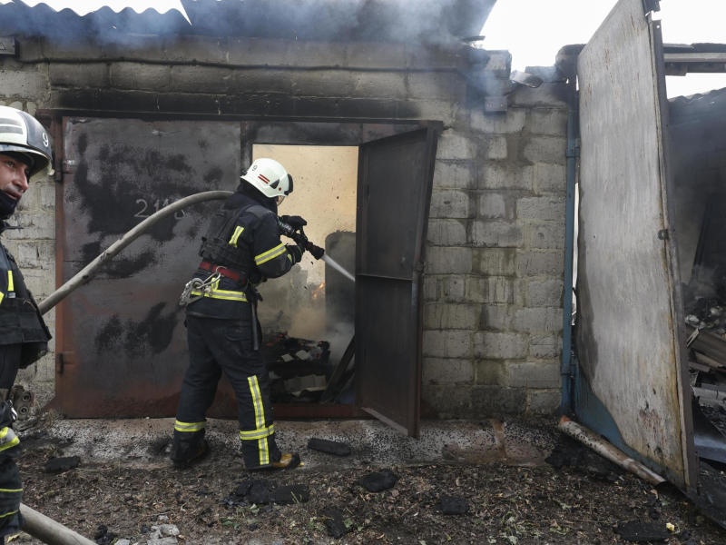
<instances>
[{"instance_id":1,"label":"dark scorched metal door leaf standing open, right of the water jet","mask_svg":"<svg viewBox=\"0 0 726 545\"><path fill-rule=\"evenodd\" d=\"M360 146L356 372L364 411L418 437L422 272L436 131Z\"/></svg>"}]
</instances>

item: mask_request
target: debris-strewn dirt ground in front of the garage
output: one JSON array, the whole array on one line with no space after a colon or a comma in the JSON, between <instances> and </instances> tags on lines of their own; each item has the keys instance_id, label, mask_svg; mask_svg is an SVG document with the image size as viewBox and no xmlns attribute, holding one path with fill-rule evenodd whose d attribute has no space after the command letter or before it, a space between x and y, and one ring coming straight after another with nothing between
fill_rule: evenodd
<instances>
[{"instance_id":1,"label":"debris-strewn dirt ground in front of the garage","mask_svg":"<svg viewBox=\"0 0 726 545\"><path fill-rule=\"evenodd\" d=\"M309 486L307 503L228 505L224 500L250 478L239 458L211 456L189 471L132 468L119 462L81 462L60 474L44 472L57 445L25 441L20 460L25 503L93 538L100 524L111 534L101 543L148 539L148 528L175 524L179 543L618 543L613 530L632 520L672 524L671 543L726 543L721 530L701 516L681 492L652 486L608 466L593 472L568 465L514 467L412 465L388 468L399 477L390 490L369 493L359 480L379 468L326 471L299 469L256 473L271 489ZM304 452L303 459L304 459ZM602 460L602 459L600 459ZM601 468L602 469L602 468ZM444 515L442 495L467 500L468 513ZM338 515L350 532L329 536L326 522ZM15 542L27 542L20 537Z\"/></svg>"}]
</instances>

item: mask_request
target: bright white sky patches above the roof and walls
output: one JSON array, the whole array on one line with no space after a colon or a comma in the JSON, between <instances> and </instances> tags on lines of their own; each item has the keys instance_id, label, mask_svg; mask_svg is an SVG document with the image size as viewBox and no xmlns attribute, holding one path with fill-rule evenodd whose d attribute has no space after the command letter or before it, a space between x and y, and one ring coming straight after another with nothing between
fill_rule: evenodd
<instances>
[{"instance_id":1,"label":"bright white sky patches above the roof and walls","mask_svg":"<svg viewBox=\"0 0 726 545\"><path fill-rule=\"evenodd\" d=\"M12 0L0 0L7 4ZM227 0L228 2L230 0ZM305 0L299 0L304 2ZM410 0L416 2L417 0ZM70 7L80 15L108 5L115 11L131 7L161 13L184 8L181 0L25 0L43 2L56 10ZM498 0L482 31L486 49L508 49L513 68L554 64L563 45L584 44L603 22L617 0ZM671 44L726 42L726 0L662 0L663 39ZM708 92L726 87L726 74L689 74L668 78L669 96Z\"/></svg>"}]
</instances>

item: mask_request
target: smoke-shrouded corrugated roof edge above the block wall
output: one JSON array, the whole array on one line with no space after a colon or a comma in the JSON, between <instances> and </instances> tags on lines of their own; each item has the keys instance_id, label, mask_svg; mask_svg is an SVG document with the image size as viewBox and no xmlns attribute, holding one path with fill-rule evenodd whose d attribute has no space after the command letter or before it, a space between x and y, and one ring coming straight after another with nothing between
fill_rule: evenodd
<instances>
[{"instance_id":1,"label":"smoke-shrouded corrugated roof edge above the block wall","mask_svg":"<svg viewBox=\"0 0 726 545\"><path fill-rule=\"evenodd\" d=\"M5 35L209 35L320 41L446 43L478 35L496 0L182 0L160 14L103 7L88 15L22 0L0 5Z\"/></svg>"}]
</instances>

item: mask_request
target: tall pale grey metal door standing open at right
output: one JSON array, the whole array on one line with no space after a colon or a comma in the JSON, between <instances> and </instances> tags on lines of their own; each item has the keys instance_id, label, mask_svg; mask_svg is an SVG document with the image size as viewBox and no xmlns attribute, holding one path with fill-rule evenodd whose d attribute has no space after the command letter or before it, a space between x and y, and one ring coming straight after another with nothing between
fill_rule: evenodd
<instances>
[{"instance_id":1,"label":"tall pale grey metal door standing open at right","mask_svg":"<svg viewBox=\"0 0 726 545\"><path fill-rule=\"evenodd\" d=\"M577 64L575 414L680 486L695 482L660 22L621 0Z\"/></svg>"}]
</instances>

